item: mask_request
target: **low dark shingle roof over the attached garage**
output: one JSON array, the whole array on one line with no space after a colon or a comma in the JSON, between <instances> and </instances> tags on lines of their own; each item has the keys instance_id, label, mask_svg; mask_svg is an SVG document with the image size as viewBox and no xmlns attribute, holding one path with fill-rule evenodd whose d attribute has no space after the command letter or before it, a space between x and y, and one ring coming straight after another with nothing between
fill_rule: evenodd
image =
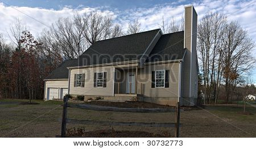
<instances>
[{"instance_id":1,"label":"low dark shingle roof over the attached garage","mask_svg":"<svg viewBox=\"0 0 256 149\"><path fill-rule=\"evenodd\" d=\"M66 60L53 70L45 79L68 79L67 67L77 66L77 59Z\"/></svg>"}]
</instances>

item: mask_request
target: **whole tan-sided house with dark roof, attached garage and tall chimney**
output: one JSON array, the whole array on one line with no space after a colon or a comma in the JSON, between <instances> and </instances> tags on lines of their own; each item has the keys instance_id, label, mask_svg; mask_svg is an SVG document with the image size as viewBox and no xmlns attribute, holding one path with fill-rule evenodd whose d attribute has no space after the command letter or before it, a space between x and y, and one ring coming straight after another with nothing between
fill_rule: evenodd
<instances>
[{"instance_id":1,"label":"whole tan-sided house with dark roof, attached garage and tall chimney","mask_svg":"<svg viewBox=\"0 0 256 149\"><path fill-rule=\"evenodd\" d=\"M44 100L66 93L85 99L138 98L150 103L195 105L197 99L197 13L185 7L184 31L161 29L95 42L77 59L47 76Z\"/></svg>"}]
</instances>

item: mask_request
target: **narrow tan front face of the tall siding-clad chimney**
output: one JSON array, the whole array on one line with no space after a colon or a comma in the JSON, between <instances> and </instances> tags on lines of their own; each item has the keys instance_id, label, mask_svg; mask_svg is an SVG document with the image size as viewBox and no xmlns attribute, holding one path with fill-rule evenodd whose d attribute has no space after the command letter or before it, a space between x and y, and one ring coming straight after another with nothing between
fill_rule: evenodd
<instances>
[{"instance_id":1,"label":"narrow tan front face of the tall siding-clad chimney","mask_svg":"<svg viewBox=\"0 0 256 149\"><path fill-rule=\"evenodd\" d=\"M191 76L191 26L192 26L192 7L185 7L185 31L184 31L184 48L187 52L184 57L183 65L183 97L189 97L190 76Z\"/></svg>"}]
</instances>

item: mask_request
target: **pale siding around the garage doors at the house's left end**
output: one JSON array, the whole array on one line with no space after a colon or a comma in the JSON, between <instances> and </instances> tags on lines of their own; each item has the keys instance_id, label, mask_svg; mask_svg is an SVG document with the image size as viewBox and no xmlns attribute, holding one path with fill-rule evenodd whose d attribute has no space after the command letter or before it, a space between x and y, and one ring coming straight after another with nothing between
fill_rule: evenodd
<instances>
[{"instance_id":1,"label":"pale siding around the garage doors at the house's left end","mask_svg":"<svg viewBox=\"0 0 256 149\"><path fill-rule=\"evenodd\" d=\"M45 100L47 99L47 88L68 88L68 80L48 80L46 81Z\"/></svg>"}]
</instances>

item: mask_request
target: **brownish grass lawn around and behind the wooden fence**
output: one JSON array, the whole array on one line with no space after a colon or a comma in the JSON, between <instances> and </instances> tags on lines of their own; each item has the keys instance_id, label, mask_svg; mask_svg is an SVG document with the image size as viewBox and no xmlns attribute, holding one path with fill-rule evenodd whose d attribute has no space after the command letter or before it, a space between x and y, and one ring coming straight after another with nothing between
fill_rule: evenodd
<instances>
[{"instance_id":1,"label":"brownish grass lawn around and behind the wooden fence","mask_svg":"<svg viewBox=\"0 0 256 149\"><path fill-rule=\"evenodd\" d=\"M55 137L60 135L61 101L0 100L0 137ZM246 106L248 115L240 114L242 105L207 105L187 108L181 112L180 137L256 137L256 108ZM174 122L174 113L99 112L68 109L69 118L98 121ZM81 125L68 124L68 128ZM109 130L147 131L174 134L173 128L84 126L86 131Z\"/></svg>"}]
</instances>

